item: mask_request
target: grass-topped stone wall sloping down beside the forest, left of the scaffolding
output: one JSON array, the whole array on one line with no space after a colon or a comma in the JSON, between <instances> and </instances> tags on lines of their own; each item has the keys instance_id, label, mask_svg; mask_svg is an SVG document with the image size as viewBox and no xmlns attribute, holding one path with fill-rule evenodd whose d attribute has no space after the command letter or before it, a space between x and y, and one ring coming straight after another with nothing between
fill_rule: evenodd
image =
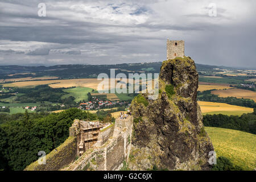
<instances>
[{"instance_id":1,"label":"grass-topped stone wall sloping down beside the forest, left of the scaffolding","mask_svg":"<svg viewBox=\"0 0 256 182\"><path fill-rule=\"evenodd\" d=\"M72 163L77 156L76 137L69 137L63 144L46 155L46 164L39 164L38 160L24 171L56 171Z\"/></svg>"}]
</instances>

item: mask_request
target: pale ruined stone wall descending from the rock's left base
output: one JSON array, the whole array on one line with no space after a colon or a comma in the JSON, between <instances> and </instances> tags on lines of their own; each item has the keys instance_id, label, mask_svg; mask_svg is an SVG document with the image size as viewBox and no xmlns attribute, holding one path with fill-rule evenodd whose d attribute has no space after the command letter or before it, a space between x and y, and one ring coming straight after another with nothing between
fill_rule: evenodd
<instances>
[{"instance_id":1,"label":"pale ruined stone wall descending from the rock's left base","mask_svg":"<svg viewBox=\"0 0 256 182\"><path fill-rule=\"evenodd\" d=\"M113 136L109 137L106 143L85 151L76 162L62 170L119 170L130 154L132 130L132 116L127 119L116 119Z\"/></svg>"}]
</instances>

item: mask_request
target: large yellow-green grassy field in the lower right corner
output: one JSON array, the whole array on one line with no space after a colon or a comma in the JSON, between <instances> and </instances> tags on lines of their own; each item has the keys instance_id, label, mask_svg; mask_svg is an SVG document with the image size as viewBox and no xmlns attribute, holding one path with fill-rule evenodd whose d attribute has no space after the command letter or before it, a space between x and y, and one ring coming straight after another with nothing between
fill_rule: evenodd
<instances>
[{"instance_id":1,"label":"large yellow-green grassy field in the lower right corner","mask_svg":"<svg viewBox=\"0 0 256 182\"><path fill-rule=\"evenodd\" d=\"M217 157L224 156L245 170L256 168L256 135L238 130L205 127Z\"/></svg>"}]
</instances>

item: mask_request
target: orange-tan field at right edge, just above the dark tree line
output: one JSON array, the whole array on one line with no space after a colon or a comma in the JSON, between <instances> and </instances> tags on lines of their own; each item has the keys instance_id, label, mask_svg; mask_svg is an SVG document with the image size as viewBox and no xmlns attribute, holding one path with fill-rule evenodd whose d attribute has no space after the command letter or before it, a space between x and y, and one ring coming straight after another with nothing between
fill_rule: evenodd
<instances>
[{"instance_id":1,"label":"orange-tan field at right edge, just above the dark tree line","mask_svg":"<svg viewBox=\"0 0 256 182\"><path fill-rule=\"evenodd\" d=\"M256 92L244 89L228 89L228 90L214 90L211 92L220 97L237 97L237 98L250 98L256 102Z\"/></svg>"}]
</instances>

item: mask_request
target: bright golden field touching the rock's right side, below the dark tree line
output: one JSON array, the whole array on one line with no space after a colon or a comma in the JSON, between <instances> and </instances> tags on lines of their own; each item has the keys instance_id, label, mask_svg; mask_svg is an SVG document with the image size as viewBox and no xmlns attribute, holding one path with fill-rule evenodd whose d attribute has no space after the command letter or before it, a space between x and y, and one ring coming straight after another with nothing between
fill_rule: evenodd
<instances>
[{"instance_id":1,"label":"bright golden field touching the rock's right side, below the dark tree line","mask_svg":"<svg viewBox=\"0 0 256 182\"><path fill-rule=\"evenodd\" d=\"M216 112L216 111L222 111L222 112L230 112L233 111L238 113L253 113L253 108L249 107L242 107L242 106L234 106L229 105L225 103L218 103L218 102L204 102L204 101L197 101L200 105L202 113L208 113L208 112Z\"/></svg>"}]
</instances>

